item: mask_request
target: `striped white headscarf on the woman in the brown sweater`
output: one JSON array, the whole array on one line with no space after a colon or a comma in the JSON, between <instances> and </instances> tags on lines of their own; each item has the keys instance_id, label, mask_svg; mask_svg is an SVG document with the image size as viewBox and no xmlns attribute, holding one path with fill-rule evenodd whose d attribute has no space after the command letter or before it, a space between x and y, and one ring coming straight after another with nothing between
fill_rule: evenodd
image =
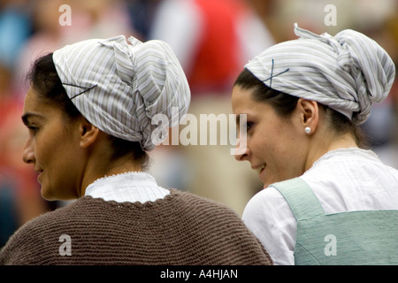
<instances>
[{"instance_id":1,"label":"striped white headscarf on the woman in the brown sweater","mask_svg":"<svg viewBox=\"0 0 398 283\"><path fill-rule=\"evenodd\" d=\"M133 36L128 42L123 35L77 42L56 50L53 60L67 95L90 123L150 150L166 137L164 128L163 140L152 141L159 126L151 119L163 114L175 126L173 116L188 111L188 80L167 43Z\"/></svg>"}]
</instances>

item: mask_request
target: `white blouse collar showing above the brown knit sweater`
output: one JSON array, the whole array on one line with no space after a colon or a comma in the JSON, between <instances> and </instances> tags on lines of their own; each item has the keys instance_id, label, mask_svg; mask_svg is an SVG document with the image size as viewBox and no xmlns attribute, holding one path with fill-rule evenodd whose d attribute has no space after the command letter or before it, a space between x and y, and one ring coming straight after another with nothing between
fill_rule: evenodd
<instances>
[{"instance_id":1,"label":"white blouse collar showing above the brown knit sweater","mask_svg":"<svg viewBox=\"0 0 398 283\"><path fill-rule=\"evenodd\" d=\"M147 172L126 172L105 176L90 184L85 193L118 203L155 202L169 194L170 191L157 186L155 178Z\"/></svg>"}]
</instances>

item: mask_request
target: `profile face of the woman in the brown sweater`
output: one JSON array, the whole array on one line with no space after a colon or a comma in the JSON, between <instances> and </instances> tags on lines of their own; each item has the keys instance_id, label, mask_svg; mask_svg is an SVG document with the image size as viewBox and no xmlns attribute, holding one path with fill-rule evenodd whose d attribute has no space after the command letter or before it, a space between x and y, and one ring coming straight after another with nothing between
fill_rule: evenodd
<instances>
[{"instance_id":1,"label":"profile face of the woman in the brown sweater","mask_svg":"<svg viewBox=\"0 0 398 283\"><path fill-rule=\"evenodd\" d=\"M81 153L73 122L55 104L43 103L29 88L22 116L29 134L23 160L34 165L42 196L48 200L79 195Z\"/></svg>"}]
</instances>

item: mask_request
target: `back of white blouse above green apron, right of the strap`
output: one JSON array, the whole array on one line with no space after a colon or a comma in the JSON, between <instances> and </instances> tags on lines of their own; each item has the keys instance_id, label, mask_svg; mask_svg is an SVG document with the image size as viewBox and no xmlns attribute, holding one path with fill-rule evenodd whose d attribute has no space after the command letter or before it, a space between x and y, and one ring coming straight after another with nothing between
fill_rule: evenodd
<instances>
[{"instance_id":1,"label":"back of white blouse above green apron, right of the strap","mask_svg":"<svg viewBox=\"0 0 398 283\"><path fill-rule=\"evenodd\" d=\"M383 164L371 150L333 150L301 178L317 195L326 214L398 209L398 170Z\"/></svg>"}]
</instances>

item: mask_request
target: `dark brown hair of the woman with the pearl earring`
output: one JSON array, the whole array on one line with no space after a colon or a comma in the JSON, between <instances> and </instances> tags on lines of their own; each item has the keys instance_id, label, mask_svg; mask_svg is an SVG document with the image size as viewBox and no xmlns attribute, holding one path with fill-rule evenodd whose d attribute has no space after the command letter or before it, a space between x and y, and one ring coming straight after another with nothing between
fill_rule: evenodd
<instances>
[{"instance_id":1,"label":"dark brown hair of the woman with the pearl earring","mask_svg":"<svg viewBox=\"0 0 398 283\"><path fill-rule=\"evenodd\" d=\"M256 76L244 69L233 86L239 86L242 89L252 90L253 99L257 102L268 103L273 110L282 118L289 118L295 111L299 100L297 96L290 96L286 93L267 87L263 81L258 80ZM356 124L352 123L346 116L338 111L318 103L319 108L323 109L329 125L336 135L351 133L360 148L367 148L369 144L362 131Z\"/></svg>"}]
</instances>

